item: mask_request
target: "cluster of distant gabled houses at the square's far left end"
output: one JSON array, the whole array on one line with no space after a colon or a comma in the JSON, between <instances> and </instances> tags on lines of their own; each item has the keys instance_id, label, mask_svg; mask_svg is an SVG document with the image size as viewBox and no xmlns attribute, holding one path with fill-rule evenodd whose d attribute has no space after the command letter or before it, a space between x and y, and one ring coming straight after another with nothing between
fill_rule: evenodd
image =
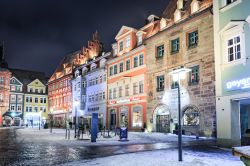
<instances>
[{"instance_id":1,"label":"cluster of distant gabled houses at the square's far left end","mask_svg":"<svg viewBox=\"0 0 250 166\"><path fill-rule=\"evenodd\" d=\"M44 125L48 119L45 74L8 68L4 52L0 59L0 126Z\"/></svg>"}]
</instances>

